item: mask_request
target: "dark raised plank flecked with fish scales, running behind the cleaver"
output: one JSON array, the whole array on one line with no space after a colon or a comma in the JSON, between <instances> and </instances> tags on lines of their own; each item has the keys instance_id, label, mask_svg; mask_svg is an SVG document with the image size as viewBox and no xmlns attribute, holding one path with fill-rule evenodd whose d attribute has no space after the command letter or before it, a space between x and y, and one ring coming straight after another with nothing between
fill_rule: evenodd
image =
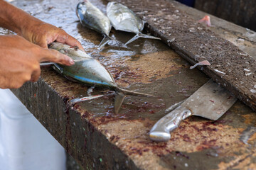
<instances>
[{"instance_id":1,"label":"dark raised plank flecked with fish scales, running behind the cleaver","mask_svg":"<svg viewBox=\"0 0 256 170\"><path fill-rule=\"evenodd\" d=\"M119 2L137 12L151 33L191 64L208 60L211 65L202 71L256 111L255 57L197 23L185 12L178 11L174 1Z\"/></svg>"}]
</instances>

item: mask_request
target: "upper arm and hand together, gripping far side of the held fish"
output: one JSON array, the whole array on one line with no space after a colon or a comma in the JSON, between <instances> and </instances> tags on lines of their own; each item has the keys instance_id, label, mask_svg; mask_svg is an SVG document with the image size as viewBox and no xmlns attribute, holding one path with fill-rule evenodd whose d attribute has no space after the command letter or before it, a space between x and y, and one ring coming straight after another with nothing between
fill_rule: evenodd
<instances>
[{"instance_id":1,"label":"upper arm and hand together, gripping far side of the held fish","mask_svg":"<svg viewBox=\"0 0 256 170\"><path fill-rule=\"evenodd\" d=\"M83 50L80 42L68 35L65 30L44 23L2 0L0 0L0 26L12 30L26 40L44 48L56 40L71 46L78 46L80 50Z\"/></svg>"}]
</instances>

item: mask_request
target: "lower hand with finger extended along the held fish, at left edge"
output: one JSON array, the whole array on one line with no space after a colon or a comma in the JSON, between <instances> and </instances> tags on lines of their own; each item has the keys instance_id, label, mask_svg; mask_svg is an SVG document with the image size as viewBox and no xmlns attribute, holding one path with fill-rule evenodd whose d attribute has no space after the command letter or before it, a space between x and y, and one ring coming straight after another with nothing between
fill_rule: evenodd
<instances>
[{"instance_id":1,"label":"lower hand with finger extended along the held fish, at left edge","mask_svg":"<svg viewBox=\"0 0 256 170\"><path fill-rule=\"evenodd\" d=\"M0 35L0 61L1 89L19 88L26 81L37 81L40 62L74 64L70 57L34 45L18 35Z\"/></svg>"}]
</instances>

